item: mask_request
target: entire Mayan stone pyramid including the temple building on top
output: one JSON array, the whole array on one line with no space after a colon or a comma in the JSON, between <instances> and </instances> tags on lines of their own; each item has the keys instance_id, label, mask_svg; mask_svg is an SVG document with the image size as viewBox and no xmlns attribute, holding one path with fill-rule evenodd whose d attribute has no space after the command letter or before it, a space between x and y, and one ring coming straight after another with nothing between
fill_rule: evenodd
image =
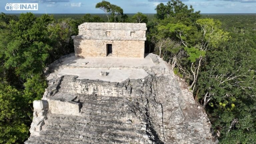
<instances>
[{"instance_id":1,"label":"entire Mayan stone pyramid including the temple building on top","mask_svg":"<svg viewBox=\"0 0 256 144\"><path fill-rule=\"evenodd\" d=\"M185 81L144 54L145 23L83 23L75 53L45 70L25 144L214 144Z\"/></svg>"}]
</instances>

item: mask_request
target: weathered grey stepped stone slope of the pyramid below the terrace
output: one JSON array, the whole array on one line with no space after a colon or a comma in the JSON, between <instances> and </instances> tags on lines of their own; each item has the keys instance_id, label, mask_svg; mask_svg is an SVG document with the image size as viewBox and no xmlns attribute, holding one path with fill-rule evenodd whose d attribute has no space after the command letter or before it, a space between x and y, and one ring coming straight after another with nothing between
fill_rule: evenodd
<instances>
[{"instance_id":1,"label":"weathered grey stepped stone slope of the pyramid below the terrace","mask_svg":"<svg viewBox=\"0 0 256 144\"><path fill-rule=\"evenodd\" d=\"M48 104L34 109L32 126L39 123L40 127L30 129L25 144L217 143L206 113L198 109L185 82L161 58L149 56L152 58L149 66L122 68L141 69L147 75L128 76L122 82L59 73L66 67L97 69L97 65L70 67L63 60L69 56L53 63L42 100ZM103 65L100 67L104 69ZM115 68L119 69L112 66L112 70ZM44 113L39 116L44 119L40 120L35 114L42 110Z\"/></svg>"}]
</instances>

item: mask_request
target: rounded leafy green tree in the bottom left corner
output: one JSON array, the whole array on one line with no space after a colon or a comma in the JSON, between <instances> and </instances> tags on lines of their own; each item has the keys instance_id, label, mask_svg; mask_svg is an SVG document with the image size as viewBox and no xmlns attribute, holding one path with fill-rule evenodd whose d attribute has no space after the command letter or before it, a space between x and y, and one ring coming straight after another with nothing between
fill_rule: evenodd
<instances>
[{"instance_id":1,"label":"rounded leafy green tree in the bottom left corner","mask_svg":"<svg viewBox=\"0 0 256 144\"><path fill-rule=\"evenodd\" d=\"M26 102L17 89L0 84L0 143L23 143L28 137L28 105L22 103Z\"/></svg>"}]
</instances>

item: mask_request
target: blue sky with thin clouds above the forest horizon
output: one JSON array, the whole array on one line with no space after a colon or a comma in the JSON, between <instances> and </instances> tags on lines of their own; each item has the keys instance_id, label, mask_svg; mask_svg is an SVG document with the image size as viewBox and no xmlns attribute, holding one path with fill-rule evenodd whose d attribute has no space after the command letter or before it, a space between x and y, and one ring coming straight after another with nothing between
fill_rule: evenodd
<instances>
[{"instance_id":1,"label":"blue sky with thin clouds above the forest horizon","mask_svg":"<svg viewBox=\"0 0 256 144\"><path fill-rule=\"evenodd\" d=\"M168 0L107 0L123 8L124 13L155 13L160 2ZM96 9L101 0L1 0L1 12L22 13L28 11L7 11L6 3L38 3L38 11L33 13L103 13ZM186 5L201 13L256 13L256 0L183 0Z\"/></svg>"}]
</instances>

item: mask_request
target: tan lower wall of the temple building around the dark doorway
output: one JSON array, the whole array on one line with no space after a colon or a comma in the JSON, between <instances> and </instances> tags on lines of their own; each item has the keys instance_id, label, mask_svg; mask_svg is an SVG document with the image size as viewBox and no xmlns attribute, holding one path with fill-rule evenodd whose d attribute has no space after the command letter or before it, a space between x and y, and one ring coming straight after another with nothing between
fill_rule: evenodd
<instances>
[{"instance_id":1,"label":"tan lower wall of the temple building around the dark doorway","mask_svg":"<svg viewBox=\"0 0 256 144\"><path fill-rule=\"evenodd\" d=\"M78 57L107 57L107 44L112 44L112 57L144 58L145 41L74 39Z\"/></svg>"}]
</instances>

